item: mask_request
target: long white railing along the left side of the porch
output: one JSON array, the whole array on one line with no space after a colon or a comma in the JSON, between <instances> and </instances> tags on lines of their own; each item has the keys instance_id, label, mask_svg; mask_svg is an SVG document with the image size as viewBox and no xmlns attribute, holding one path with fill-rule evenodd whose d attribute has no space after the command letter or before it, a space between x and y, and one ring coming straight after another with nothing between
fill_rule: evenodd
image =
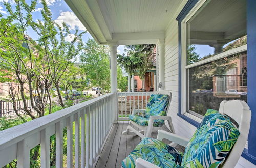
<instances>
[{"instance_id":1,"label":"long white railing along the left side of the porch","mask_svg":"<svg viewBox=\"0 0 256 168\"><path fill-rule=\"evenodd\" d=\"M109 93L1 131L0 167L14 159L17 159L17 167L29 167L30 149L37 145L40 145L41 167L50 167L50 136L54 134L56 167L62 167L65 127L67 128L67 167L73 167L73 146L75 167L93 167L114 122L115 101L116 94ZM74 145L73 122L75 123Z\"/></svg>"}]
</instances>

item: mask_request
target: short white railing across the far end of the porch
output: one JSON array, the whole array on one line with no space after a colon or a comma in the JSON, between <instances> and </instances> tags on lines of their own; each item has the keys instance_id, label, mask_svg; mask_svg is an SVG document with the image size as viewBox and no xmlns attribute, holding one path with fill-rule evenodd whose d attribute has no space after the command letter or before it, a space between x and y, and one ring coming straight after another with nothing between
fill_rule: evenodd
<instances>
[{"instance_id":1,"label":"short white railing across the far end of the porch","mask_svg":"<svg viewBox=\"0 0 256 168\"><path fill-rule=\"evenodd\" d=\"M145 109L147 100L154 92L119 92L118 100L118 120L129 120L133 108Z\"/></svg>"}]
</instances>

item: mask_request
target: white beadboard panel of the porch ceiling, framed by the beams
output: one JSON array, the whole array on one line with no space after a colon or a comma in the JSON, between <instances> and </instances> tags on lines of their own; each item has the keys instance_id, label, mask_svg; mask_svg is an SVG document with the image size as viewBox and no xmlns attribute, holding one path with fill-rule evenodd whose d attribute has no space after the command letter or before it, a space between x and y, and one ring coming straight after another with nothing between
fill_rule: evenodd
<instances>
[{"instance_id":1,"label":"white beadboard panel of the porch ceiling, framed by the beams","mask_svg":"<svg viewBox=\"0 0 256 168\"><path fill-rule=\"evenodd\" d=\"M112 33L164 31L177 0L97 0Z\"/></svg>"}]
</instances>

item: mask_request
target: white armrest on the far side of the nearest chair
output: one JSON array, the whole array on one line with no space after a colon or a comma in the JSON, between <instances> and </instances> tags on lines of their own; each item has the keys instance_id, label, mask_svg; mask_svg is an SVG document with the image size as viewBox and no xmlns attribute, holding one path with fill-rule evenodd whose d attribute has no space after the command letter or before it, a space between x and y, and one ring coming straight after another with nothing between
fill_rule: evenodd
<instances>
[{"instance_id":1,"label":"white armrest on the far side of the nearest chair","mask_svg":"<svg viewBox=\"0 0 256 168\"><path fill-rule=\"evenodd\" d=\"M176 135L176 134L164 131L164 130L158 130L157 139L160 141L162 141L163 139L168 139L169 141L177 143L183 147L186 147L190 140L188 138L181 137L179 135Z\"/></svg>"}]
</instances>

